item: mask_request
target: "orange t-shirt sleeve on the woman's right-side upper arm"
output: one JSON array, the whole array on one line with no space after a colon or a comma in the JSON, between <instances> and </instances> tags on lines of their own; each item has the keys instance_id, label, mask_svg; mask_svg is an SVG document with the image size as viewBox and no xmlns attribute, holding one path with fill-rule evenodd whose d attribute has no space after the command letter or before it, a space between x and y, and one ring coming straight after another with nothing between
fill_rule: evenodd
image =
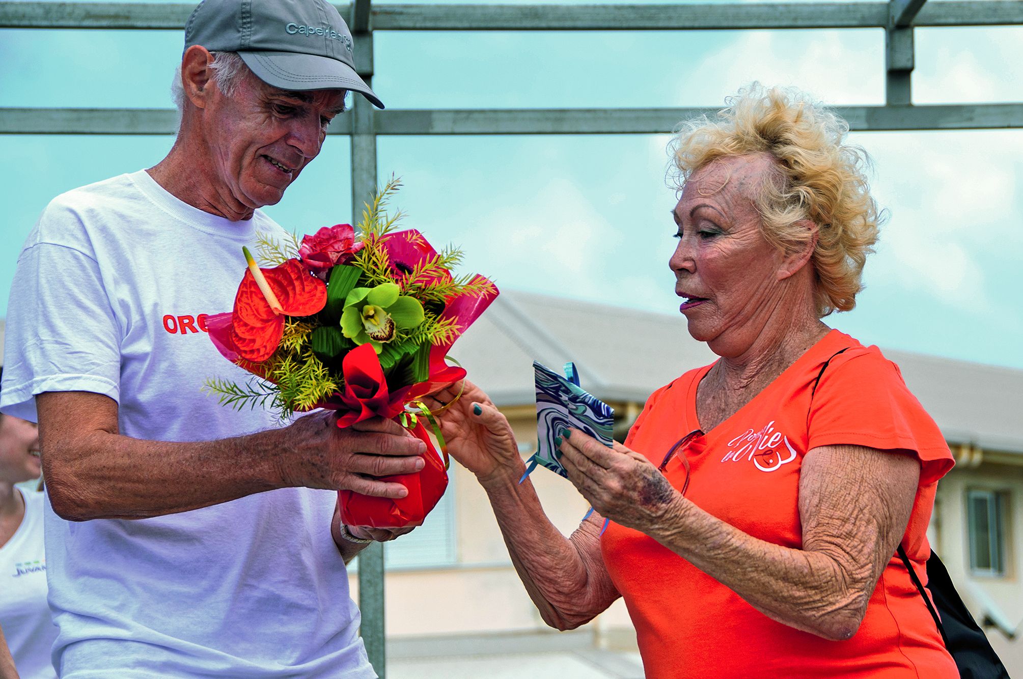
<instances>
[{"instance_id":1,"label":"orange t-shirt sleeve on the woman's right-side upper arm","mask_svg":"<svg viewBox=\"0 0 1023 679\"><path fill-rule=\"evenodd\" d=\"M894 363L876 350L829 366L810 405L807 450L855 445L906 451L921 462L921 485L954 465L941 431Z\"/></svg>"}]
</instances>

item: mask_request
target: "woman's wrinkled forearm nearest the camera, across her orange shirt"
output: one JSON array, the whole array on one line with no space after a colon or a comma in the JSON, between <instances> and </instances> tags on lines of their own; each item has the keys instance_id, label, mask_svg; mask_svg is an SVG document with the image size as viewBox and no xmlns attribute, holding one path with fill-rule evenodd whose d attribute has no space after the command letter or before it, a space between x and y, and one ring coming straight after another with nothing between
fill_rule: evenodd
<instances>
[{"instance_id":1,"label":"woman's wrinkled forearm nearest the camera, across her orange shirt","mask_svg":"<svg viewBox=\"0 0 1023 679\"><path fill-rule=\"evenodd\" d=\"M870 563L837 546L805 551L765 542L680 496L651 537L771 620L826 639L855 634L877 581Z\"/></svg>"}]
</instances>

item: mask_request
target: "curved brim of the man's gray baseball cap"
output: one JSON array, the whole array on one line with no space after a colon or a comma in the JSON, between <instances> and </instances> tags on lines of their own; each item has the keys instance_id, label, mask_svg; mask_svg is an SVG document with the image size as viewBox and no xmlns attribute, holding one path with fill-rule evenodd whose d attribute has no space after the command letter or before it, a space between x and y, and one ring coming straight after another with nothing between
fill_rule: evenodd
<instances>
[{"instance_id":1,"label":"curved brim of the man's gray baseball cap","mask_svg":"<svg viewBox=\"0 0 1023 679\"><path fill-rule=\"evenodd\" d=\"M271 87L296 92L351 90L377 108L384 107L380 97L344 61L298 52L238 52L238 56L257 78Z\"/></svg>"}]
</instances>

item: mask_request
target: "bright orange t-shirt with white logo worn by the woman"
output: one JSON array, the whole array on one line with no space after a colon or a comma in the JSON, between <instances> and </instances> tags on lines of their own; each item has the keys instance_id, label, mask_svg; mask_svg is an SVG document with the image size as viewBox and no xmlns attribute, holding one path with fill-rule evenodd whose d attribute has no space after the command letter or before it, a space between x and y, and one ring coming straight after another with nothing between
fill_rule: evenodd
<instances>
[{"instance_id":1,"label":"bright orange t-shirt with white logo worn by the woman","mask_svg":"<svg viewBox=\"0 0 1023 679\"><path fill-rule=\"evenodd\" d=\"M676 442L700 428L697 384L710 368L691 370L655 392L626 445L660 465ZM838 330L731 417L681 447L664 473L681 489L685 469L679 455L684 454L691 467L685 497L754 538L799 549L803 455L838 444L908 451L920 459L920 486L902 545L926 582L927 525L938 479L952 467L951 454L898 367L877 347L865 348ZM635 625L651 679L959 677L895 554L856 634L847 641L828 641L770 620L642 533L611 523L601 545Z\"/></svg>"}]
</instances>

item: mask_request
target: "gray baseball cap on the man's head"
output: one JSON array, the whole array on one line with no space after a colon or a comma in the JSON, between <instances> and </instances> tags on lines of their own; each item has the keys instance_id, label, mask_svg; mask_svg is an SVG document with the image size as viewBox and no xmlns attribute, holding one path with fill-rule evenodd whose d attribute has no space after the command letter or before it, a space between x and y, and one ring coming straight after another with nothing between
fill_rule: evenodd
<instances>
[{"instance_id":1,"label":"gray baseball cap on the man's head","mask_svg":"<svg viewBox=\"0 0 1023 679\"><path fill-rule=\"evenodd\" d=\"M384 107L355 73L352 34L325 0L204 0L185 25L185 49L237 52L282 90L344 89Z\"/></svg>"}]
</instances>

